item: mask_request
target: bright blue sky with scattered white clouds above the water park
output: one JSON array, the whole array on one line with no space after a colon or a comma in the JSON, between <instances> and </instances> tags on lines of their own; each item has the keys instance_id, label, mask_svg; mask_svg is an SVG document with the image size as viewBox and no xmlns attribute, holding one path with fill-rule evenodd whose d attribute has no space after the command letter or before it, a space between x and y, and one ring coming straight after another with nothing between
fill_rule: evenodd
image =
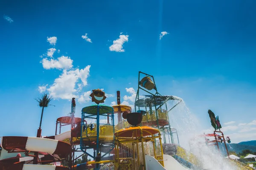
<instances>
[{"instance_id":1,"label":"bright blue sky with scattered white clouds above the water park","mask_svg":"<svg viewBox=\"0 0 256 170\"><path fill-rule=\"evenodd\" d=\"M211 109L232 142L256 139L255 7L254 0L1 1L0 136L35 136L39 87L55 97L42 123L53 135L72 96L77 116L96 88L107 105L117 90L131 105L143 71L161 94L183 98L201 130L211 127Z\"/></svg>"}]
</instances>

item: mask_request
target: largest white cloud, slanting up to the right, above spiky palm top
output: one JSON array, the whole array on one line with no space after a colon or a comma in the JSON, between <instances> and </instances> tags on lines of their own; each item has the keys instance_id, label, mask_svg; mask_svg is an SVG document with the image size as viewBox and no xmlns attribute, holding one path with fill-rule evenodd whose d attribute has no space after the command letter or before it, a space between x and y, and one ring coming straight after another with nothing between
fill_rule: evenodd
<instances>
[{"instance_id":1,"label":"largest white cloud, slanting up to the right, above spiky palm top","mask_svg":"<svg viewBox=\"0 0 256 170\"><path fill-rule=\"evenodd\" d=\"M79 84L80 80L82 82L82 86L87 85L87 77L89 76L89 72L90 65L87 65L84 69L80 70L64 70L63 73L54 80L54 83L47 88L47 91L49 91L54 98L71 99L72 97L79 97L79 85L77 84ZM85 101L87 99L84 94L82 97L80 96L80 101Z\"/></svg>"}]
</instances>

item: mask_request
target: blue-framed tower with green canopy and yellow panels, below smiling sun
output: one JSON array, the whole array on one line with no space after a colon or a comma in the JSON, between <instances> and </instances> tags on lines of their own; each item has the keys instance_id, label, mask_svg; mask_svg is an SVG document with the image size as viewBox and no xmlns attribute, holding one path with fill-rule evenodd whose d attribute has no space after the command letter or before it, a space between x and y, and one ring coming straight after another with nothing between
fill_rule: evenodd
<instances>
[{"instance_id":1,"label":"blue-framed tower with green canopy and yellow panels, below smiling sun","mask_svg":"<svg viewBox=\"0 0 256 170\"><path fill-rule=\"evenodd\" d=\"M102 117L108 118L107 124L99 123ZM102 150L105 154L101 157L104 157L114 149L114 110L107 105L90 105L82 108L81 119L86 118L96 119L96 124L87 125L81 121L80 149L95 160L96 154L102 153ZM94 150L93 156L87 153L87 149Z\"/></svg>"}]
</instances>

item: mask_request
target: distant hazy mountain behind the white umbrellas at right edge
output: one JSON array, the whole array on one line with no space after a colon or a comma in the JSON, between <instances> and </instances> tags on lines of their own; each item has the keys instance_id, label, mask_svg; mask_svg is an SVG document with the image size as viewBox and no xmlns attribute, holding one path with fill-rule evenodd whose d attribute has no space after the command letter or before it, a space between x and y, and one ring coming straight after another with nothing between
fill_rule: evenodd
<instances>
[{"instance_id":1,"label":"distant hazy mountain behind the white umbrellas at right edge","mask_svg":"<svg viewBox=\"0 0 256 170\"><path fill-rule=\"evenodd\" d=\"M240 142L237 144L235 143L227 144L228 151L241 153L243 150L246 150L246 149L251 150L252 152L256 152L256 141L246 141L246 142ZM220 150L222 154L227 155L224 143L220 145Z\"/></svg>"}]
</instances>

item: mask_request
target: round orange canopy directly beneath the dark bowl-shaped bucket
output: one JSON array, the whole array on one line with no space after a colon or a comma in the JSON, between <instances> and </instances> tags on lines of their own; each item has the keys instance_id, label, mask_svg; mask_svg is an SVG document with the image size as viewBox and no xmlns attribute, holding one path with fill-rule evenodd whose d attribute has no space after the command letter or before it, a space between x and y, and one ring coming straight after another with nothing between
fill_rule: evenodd
<instances>
[{"instance_id":1,"label":"round orange canopy directly beneath the dark bowl-shaped bucket","mask_svg":"<svg viewBox=\"0 0 256 170\"><path fill-rule=\"evenodd\" d=\"M154 129L152 127L141 126L141 127L129 127L119 130L115 133L115 136L119 137L139 137L140 136L140 128L142 129L143 136L154 135L156 133L160 133L159 130Z\"/></svg>"}]
</instances>

